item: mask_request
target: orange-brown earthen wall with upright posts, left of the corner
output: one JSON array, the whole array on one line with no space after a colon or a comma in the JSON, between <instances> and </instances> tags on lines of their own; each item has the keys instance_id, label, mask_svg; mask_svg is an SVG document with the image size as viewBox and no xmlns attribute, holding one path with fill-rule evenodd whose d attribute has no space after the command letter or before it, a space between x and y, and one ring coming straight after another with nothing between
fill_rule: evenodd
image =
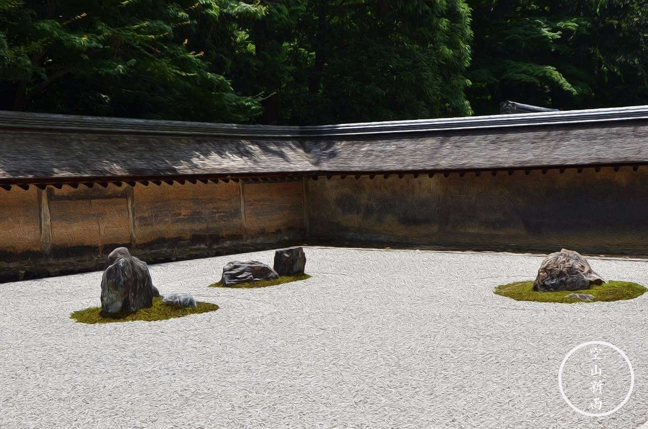
<instances>
[{"instance_id":1,"label":"orange-brown earthen wall with upright posts, left of the corner","mask_svg":"<svg viewBox=\"0 0 648 429\"><path fill-rule=\"evenodd\" d=\"M247 206L233 182L2 191L0 282L101 268L119 246L161 262L305 236L301 181L244 186Z\"/></svg>"}]
</instances>

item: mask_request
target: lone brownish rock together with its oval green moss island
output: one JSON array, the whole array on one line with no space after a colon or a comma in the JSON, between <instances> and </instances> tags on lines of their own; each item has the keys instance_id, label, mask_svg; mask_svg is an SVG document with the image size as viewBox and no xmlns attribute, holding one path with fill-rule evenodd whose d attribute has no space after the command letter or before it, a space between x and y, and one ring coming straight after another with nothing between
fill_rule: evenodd
<instances>
[{"instance_id":1,"label":"lone brownish rock together with its oval green moss island","mask_svg":"<svg viewBox=\"0 0 648 429\"><path fill-rule=\"evenodd\" d=\"M503 284L495 293L518 301L576 303L632 299L646 290L636 283L606 282L582 255L562 249L542 261L535 281Z\"/></svg>"}]
</instances>

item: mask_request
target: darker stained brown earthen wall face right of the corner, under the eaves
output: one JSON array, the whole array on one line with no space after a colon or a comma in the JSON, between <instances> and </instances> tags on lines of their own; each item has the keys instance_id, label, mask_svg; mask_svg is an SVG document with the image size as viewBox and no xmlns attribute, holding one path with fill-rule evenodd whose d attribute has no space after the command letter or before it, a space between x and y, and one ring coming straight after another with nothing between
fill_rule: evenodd
<instances>
[{"instance_id":1,"label":"darker stained brown earthen wall face right of the corner, under the eaves","mask_svg":"<svg viewBox=\"0 0 648 429\"><path fill-rule=\"evenodd\" d=\"M648 169L308 182L313 238L648 254Z\"/></svg>"}]
</instances>

